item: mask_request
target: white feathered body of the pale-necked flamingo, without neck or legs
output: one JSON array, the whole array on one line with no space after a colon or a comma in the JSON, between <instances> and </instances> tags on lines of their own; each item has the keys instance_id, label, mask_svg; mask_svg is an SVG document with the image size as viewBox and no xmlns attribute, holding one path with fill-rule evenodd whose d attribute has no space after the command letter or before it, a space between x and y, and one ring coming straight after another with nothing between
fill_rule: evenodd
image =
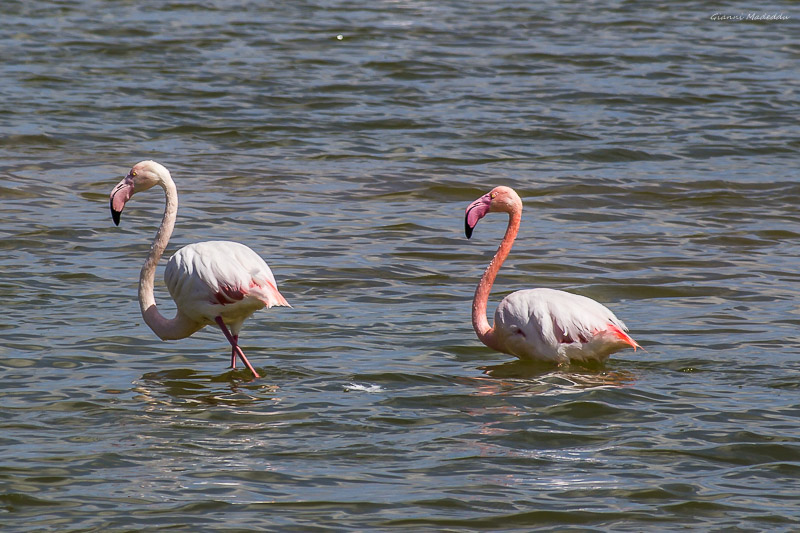
<instances>
[{"instance_id":1,"label":"white feathered body of the pale-necked flamingo, without neck or legs","mask_svg":"<svg viewBox=\"0 0 800 533\"><path fill-rule=\"evenodd\" d=\"M216 316L237 322L265 306L288 305L267 263L237 242L184 246L167 263L164 281L178 309L206 324Z\"/></svg>"}]
</instances>

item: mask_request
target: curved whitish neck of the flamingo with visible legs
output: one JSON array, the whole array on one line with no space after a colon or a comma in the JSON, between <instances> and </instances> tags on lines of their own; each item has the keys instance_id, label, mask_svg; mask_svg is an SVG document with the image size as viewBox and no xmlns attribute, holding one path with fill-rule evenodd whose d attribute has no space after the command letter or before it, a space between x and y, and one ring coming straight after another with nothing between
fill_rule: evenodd
<instances>
[{"instance_id":1,"label":"curved whitish neck of the flamingo with visible legs","mask_svg":"<svg viewBox=\"0 0 800 533\"><path fill-rule=\"evenodd\" d=\"M145 323L159 338L163 340L182 339L200 329L202 324L197 324L189 319L180 310L178 310L173 319L164 317L158 312L156 298L153 294L156 267L164 254L164 250L167 248L169 238L172 236L175 218L178 214L178 191L175 188L175 182L167 176L160 182L160 185L164 189L166 196L164 218L161 220L161 226L156 232L156 238L150 247L150 253L147 255L147 259L142 265L142 271L139 274L139 307Z\"/></svg>"}]
</instances>

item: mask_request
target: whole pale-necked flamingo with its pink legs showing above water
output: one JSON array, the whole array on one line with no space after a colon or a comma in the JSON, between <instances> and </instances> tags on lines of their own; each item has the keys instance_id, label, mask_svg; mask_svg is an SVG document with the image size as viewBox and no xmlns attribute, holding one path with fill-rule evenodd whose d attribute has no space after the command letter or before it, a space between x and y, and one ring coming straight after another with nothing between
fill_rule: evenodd
<instances>
[{"instance_id":1,"label":"whole pale-necked flamingo with its pink legs showing above water","mask_svg":"<svg viewBox=\"0 0 800 533\"><path fill-rule=\"evenodd\" d=\"M175 227L178 191L169 171L155 161L141 161L111 191L111 218L119 226L120 214L131 197L156 185L164 189L166 207L150 253L139 275L139 306L145 323L161 340L184 339L216 323L231 345L231 368L238 355L258 378L258 372L239 347L244 321L264 307L291 307L278 291L266 262L253 250L231 241L206 241L184 246L164 271L178 310L168 319L156 307L153 285L158 265Z\"/></svg>"}]
</instances>

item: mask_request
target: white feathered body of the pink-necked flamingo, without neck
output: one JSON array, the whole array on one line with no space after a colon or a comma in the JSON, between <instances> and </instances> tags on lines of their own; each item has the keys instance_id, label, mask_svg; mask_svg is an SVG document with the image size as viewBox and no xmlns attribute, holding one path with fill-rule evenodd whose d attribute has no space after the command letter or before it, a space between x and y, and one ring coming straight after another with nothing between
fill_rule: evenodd
<instances>
[{"instance_id":1,"label":"white feathered body of the pink-necked flamingo, without neck","mask_svg":"<svg viewBox=\"0 0 800 533\"><path fill-rule=\"evenodd\" d=\"M495 312L494 327L505 351L523 359L603 361L624 347L639 346L604 305L553 289L508 295Z\"/></svg>"}]
</instances>

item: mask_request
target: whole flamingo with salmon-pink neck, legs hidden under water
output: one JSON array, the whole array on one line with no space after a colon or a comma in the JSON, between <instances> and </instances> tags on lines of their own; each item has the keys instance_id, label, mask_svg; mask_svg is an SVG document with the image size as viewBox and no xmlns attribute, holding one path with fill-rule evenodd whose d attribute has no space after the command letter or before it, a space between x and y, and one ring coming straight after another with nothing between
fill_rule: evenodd
<instances>
[{"instance_id":1,"label":"whole flamingo with salmon-pink neck, legs hidden under water","mask_svg":"<svg viewBox=\"0 0 800 533\"><path fill-rule=\"evenodd\" d=\"M522 200L510 187L495 187L466 209L464 230L469 239L487 213L508 213L503 240L481 276L472 301L472 327L489 348L523 360L565 364L605 361L626 347L640 348L628 328L604 305L577 294L553 289L527 289L506 296L494 315L486 318L486 304L497 272L519 232Z\"/></svg>"}]
</instances>

